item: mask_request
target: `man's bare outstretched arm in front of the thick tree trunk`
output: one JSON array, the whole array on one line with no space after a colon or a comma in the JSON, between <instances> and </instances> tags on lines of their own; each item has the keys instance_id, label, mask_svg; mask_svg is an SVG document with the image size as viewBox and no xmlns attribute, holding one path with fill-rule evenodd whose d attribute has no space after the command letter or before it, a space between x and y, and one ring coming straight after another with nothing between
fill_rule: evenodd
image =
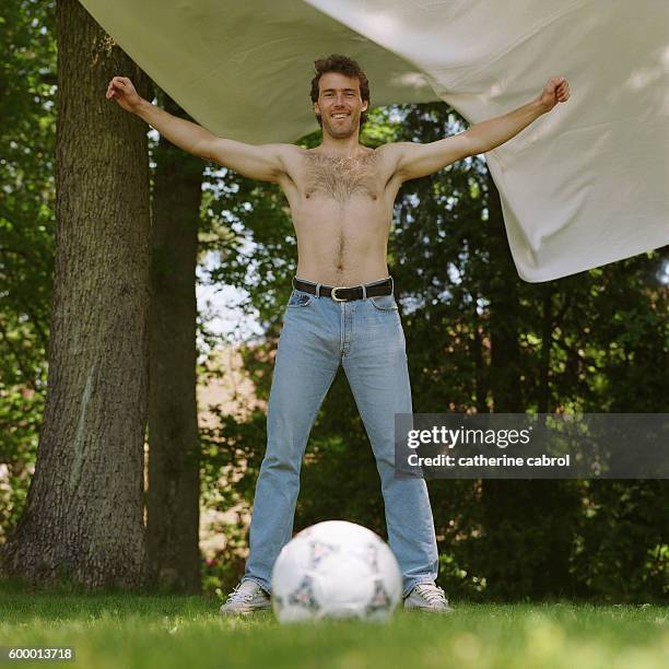
<instances>
[{"instance_id":1,"label":"man's bare outstretched arm in front of the thick tree trunk","mask_svg":"<svg viewBox=\"0 0 669 669\"><path fill-rule=\"evenodd\" d=\"M285 172L283 156L291 144L254 145L216 137L202 126L173 116L141 97L127 77L111 79L106 97L145 120L175 146L201 159L263 181L277 183Z\"/></svg>"}]
</instances>

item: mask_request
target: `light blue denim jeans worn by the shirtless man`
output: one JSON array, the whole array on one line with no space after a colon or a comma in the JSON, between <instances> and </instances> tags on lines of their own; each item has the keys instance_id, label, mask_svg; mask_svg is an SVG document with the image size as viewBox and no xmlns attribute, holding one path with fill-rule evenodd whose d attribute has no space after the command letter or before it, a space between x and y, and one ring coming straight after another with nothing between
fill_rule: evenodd
<instances>
[{"instance_id":1,"label":"light blue denim jeans worn by the shirtless man","mask_svg":"<svg viewBox=\"0 0 669 669\"><path fill-rule=\"evenodd\" d=\"M274 362L243 580L270 592L272 566L293 533L307 438L340 363L372 443L406 597L419 583L435 580L438 560L425 481L395 476L395 413L411 413L412 407L394 295L334 302L293 290Z\"/></svg>"}]
</instances>

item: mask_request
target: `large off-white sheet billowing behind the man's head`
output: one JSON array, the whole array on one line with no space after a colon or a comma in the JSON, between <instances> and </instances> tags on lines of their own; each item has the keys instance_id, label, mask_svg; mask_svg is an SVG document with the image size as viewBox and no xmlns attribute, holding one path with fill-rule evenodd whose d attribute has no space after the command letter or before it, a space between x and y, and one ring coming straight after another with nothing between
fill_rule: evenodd
<instances>
[{"instance_id":1,"label":"large off-white sheet billowing behind the man's head","mask_svg":"<svg viewBox=\"0 0 669 669\"><path fill-rule=\"evenodd\" d=\"M519 275L669 244L667 0L82 4L198 122L255 143L317 128L313 61L330 52L360 61L373 105L441 98L471 124L564 75L567 103L485 155Z\"/></svg>"}]
</instances>

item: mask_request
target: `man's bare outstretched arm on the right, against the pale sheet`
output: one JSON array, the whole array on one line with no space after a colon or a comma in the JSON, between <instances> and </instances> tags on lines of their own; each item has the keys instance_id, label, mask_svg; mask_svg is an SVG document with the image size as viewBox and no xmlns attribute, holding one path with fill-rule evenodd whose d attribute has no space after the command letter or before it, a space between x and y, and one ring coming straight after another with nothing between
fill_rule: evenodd
<instances>
[{"instance_id":1,"label":"man's bare outstretched arm on the right, against the pale sheet","mask_svg":"<svg viewBox=\"0 0 669 669\"><path fill-rule=\"evenodd\" d=\"M465 132L436 142L390 144L396 160L395 173L402 181L433 174L469 155L492 151L527 128L558 103L570 98L570 84L564 77L552 77L541 95L532 102L490 120L474 124Z\"/></svg>"}]
</instances>

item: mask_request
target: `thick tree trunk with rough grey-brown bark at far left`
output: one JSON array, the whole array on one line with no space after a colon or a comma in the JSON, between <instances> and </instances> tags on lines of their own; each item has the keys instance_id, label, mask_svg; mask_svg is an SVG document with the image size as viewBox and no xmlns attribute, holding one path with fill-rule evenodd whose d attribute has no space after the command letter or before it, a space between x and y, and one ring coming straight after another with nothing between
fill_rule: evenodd
<instances>
[{"instance_id":1,"label":"thick tree trunk with rough grey-brown bark at far left","mask_svg":"<svg viewBox=\"0 0 669 669\"><path fill-rule=\"evenodd\" d=\"M105 98L148 80L75 0L58 26L57 243L47 401L5 573L134 587L145 575L146 126Z\"/></svg>"}]
</instances>

